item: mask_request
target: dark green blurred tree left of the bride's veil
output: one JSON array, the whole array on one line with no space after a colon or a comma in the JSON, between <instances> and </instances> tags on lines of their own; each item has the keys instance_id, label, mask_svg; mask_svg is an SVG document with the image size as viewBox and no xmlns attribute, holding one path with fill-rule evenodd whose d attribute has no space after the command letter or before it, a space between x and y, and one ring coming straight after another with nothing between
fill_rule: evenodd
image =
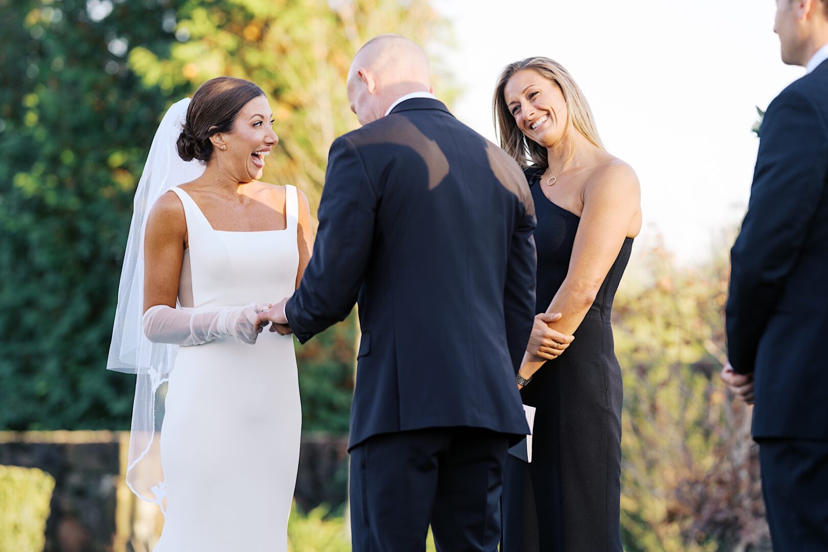
<instances>
[{"instance_id":1,"label":"dark green blurred tree left of the bride's veil","mask_svg":"<svg viewBox=\"0 0 828 552\"><path fill-rule=\"evenodd\" d=\"M2 429L128 427L134 379L103 367L131 196L168 100L125 55L176 39L165 7L113 7L0 0Z\"/></svg>"}]
</instances>

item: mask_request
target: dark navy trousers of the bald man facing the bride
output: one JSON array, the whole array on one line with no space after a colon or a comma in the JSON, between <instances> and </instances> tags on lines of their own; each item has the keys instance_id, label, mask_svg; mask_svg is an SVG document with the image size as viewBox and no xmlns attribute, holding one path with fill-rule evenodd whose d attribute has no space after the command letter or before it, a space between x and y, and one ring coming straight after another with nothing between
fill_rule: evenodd
<instances>
[{"instance_id":1,"label":"dark navy trousers of the bald man facing the bride","mask_svg":"<svg viewBox=\"0 0 828 552\"><path fill-rule=\"evenodd\" d=\"M351 449L354 552L496 552L510 435L469 427L374 435Z\"/></svg>"}]
</instances>

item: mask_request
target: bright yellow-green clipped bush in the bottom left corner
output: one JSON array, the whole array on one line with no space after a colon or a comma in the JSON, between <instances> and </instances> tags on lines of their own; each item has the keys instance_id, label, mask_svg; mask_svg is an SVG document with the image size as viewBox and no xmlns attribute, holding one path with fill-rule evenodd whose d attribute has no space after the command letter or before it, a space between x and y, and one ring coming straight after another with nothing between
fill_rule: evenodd
<instances>
[{"instance_id":1,"label":"bright yellow-green clipped bush in the bottom left corner","mask_svg":"<svg viewBox=\"0 0 828 552\"><path fill-rule=\"evenodd\" d=\"M41 552L55 478L37 468L0 466L0 552Z\"/></svg>"}]
</instances>

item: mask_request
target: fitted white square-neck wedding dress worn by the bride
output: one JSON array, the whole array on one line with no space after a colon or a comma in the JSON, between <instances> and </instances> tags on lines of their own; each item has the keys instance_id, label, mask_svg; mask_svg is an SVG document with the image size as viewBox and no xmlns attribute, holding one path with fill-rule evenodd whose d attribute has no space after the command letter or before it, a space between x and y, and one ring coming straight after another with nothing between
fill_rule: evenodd
<instances>
[{"instance_id":1,"label":"fitted white square-neck wedding dress worn by the bride","mask_svg":"<svg viewBox=\"0 0 828 552\"><path fill-rule=\"evenodd\" d=\"M214 230L184 204L189 248L184 307L275 303L296 289L296 188L286 187L287 228ZM166 521L154 552L284 552L299 462L301 406L291 335L263 331L181 347L161 429Z\"/></svg>"}]
</instances>

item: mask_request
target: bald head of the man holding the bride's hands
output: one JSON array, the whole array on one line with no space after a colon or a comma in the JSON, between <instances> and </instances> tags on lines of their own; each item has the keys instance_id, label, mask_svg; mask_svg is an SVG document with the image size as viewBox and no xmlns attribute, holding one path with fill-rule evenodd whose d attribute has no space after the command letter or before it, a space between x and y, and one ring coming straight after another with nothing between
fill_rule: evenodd
<instances>
[{"instance_id":1,"label":"bald head of the man holding the bride's hands","mask_svg":"<svg viewBox=\"0 0 828 552\"><path fill-rule=\"evenodd\" d=\"M363 125L383 117L397 98L431 91L426 52L404 36L375 36L359 49L348 72L351 110Z\"/></svg>"}]
</instances>

